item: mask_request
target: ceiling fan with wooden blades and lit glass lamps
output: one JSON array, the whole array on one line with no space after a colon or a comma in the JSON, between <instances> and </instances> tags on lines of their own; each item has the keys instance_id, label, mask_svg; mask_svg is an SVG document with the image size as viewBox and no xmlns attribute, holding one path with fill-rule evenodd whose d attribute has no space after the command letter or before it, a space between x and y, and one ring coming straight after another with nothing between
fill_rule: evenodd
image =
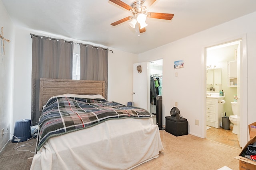
<instances>
[{"instance_id":1,"label":"ceiling fan with wooden blades and lit glass lamps","mask_svg":"<svg viewBox=\"0 0 256 170\"><path fill-rule=\"evenodd\" d=\"M120 23L123 23L125 21L131 20L129 22L129 25L133 28L136 27L136 24L138 23L140 33L143 33L146 31L146 17L149 18L156 18L156 19L163 19L163 20L172 20L174 14L166 14L166 13L158 13L158 12L147 12L147 8L150 7L156 0L136 0L132 3L132 5L128 5L121 0L109 0L118 6L121 6L122 8L129 10L132 12L132 16L128 16L126 18L123 18L121 20L118 20L116 22L111 23L111 25L116 26Z\"/></svg>"}]
</instances>

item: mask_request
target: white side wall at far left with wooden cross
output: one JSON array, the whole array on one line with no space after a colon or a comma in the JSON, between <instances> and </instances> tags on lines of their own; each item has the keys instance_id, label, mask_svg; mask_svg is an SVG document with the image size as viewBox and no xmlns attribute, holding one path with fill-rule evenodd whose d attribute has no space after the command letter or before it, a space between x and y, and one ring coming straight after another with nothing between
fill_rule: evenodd
<instances>
[{"instance_id":1,"label":"white side wall at far left with wooden cross","mask_svg":"<svg viewBox=\"0 0 256 170\"><path fill-rule=\"evenodd\" d=\"M0 31L3 28L4 38L10 40L4 42L5 55L1 54L0 39L0 129L10 133L12 122L13 100L13 69L14 69L14 25L0 0ZM1 33L1 32L0 32ZM10 139L9 134L0 135L0 151Z\"/></svg>"}]
</instances>

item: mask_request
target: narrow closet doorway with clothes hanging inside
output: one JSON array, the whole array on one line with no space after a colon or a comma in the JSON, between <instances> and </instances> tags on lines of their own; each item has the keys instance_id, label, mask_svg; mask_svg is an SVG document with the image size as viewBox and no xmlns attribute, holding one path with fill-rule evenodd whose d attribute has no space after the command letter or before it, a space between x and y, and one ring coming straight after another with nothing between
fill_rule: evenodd
<instances>
[{"instance_id":1,"label":"narrow closet doorway with clothes hanging inside","mask_svg":"<svg viewBox=\"0 0 256 170\"><path fill-rule=\"evenodd\" d=\"M154 124L156 124L156 96L162 96L162 80L163 80L163 59L151 61L149 63L150 73L150 113L153 115ZM151 83L154 81L154 83ZM154 84L155 87L152 87Z\"/></svg>"}]
</instances>

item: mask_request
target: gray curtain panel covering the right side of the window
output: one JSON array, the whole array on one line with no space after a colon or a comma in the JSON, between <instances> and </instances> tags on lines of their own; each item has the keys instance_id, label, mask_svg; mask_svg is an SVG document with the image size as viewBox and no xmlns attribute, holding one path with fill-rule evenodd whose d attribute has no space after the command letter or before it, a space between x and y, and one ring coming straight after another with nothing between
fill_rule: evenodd
<instances>
[{"instance_id":1,"label":"gray curtain panel covering the right side of the window","mask_svg":"<svg viewBox=\"0 0 256 170\"><path fill-rule=\"evenodd\" d=\"M80 43L80 80L105 81L108 99L108 49Z\"/></svg>"}]
</instances>

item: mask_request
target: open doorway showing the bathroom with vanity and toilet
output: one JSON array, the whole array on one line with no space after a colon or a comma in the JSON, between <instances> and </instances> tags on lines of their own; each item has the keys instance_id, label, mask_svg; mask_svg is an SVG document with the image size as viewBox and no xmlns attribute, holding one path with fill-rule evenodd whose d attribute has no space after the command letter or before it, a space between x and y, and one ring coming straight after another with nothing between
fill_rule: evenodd
<instances>
[{"instance_id":1,"label":"open doorway showing the bathroom with vanity and toilet","mask_svg":"<svg viewBox=\"0 0 256 170\"><path fill-rule=\"evenodd\" d=\"M206 139L239 149L241 146L239 143L240 130L238 130L238 134L232 133L233 124L231 124L230 130L223 129L222 117L233 115L231 102L234 102L234 95L240 94L240 88L237 86L240 74L237 74L236 78L230 78L229 63L240 59L241 43L242 40L236 40L206 48L206 95L217 94L219 96L222 90L224 92L224 98L215 99L214 97L206 96L206 108L215 108L212 111L206 110ZM240 62L237 62L236 66L237 72L239 72ZM207 101L209 98L217 101L215 106L208 106L209 102ZM220 100L223 101L219 102Z\"/></svg>"}]
</instances>

